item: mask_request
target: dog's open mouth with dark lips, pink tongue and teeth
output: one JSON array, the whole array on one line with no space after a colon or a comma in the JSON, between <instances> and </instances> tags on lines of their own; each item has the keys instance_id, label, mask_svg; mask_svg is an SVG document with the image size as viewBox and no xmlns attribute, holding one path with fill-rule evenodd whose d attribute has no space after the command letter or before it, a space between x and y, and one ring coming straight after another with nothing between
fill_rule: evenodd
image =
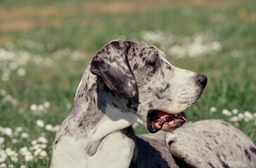
<instances>
[{"instance_id":1,"label":"dog's open mouth with dark lips, pink tongue and teeth","mask_svg":"<svg viewBox=\"0 0 256 168\"><path fill-rule=\"evenodd\" d=\"M171 114L153 110L148 113L147 127L151 133L158 132L159 130L172 131L184 125L186 121L186 114L183 111Z\"/></svg>"}]
</instances>

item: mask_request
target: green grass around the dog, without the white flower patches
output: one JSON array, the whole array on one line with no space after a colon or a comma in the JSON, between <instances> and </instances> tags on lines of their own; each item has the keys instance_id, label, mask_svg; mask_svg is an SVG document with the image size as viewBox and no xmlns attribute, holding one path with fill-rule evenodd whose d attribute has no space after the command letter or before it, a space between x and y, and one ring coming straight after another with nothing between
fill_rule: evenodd
<instances>
[{"instance_id":1,"label":"green grass around the dog, without the white flower patches","mask_svg":"<svg viewBox=\"0 0 256 168\"><path fill-rule=\"evenodd\" d=\"M36 121L41 119L45 124L59 125L70 113L67 104L72 105L77 85L91 57L105 43L115 38L142 41L143 31L163 31L178 38L212 31L214 40L222 44L223 50L217 54L181 59L167 55L167 59L174 66L203 73L208 77L208 84L202 97L186 111L188 120L195 122L216 118L229 121L229 117L222 114L223 109L256 113L256 10L252 7L256 5L256 1L236 1L236 3L215 1L214 4L208 5L207 1L197 4L190 1L162 0L158 1L155 8L147 9L143 8L146 1L132 1L133 6L141 7L136 10L124 8L124 12L115 11L115 8L113 12L84 10L89 1L55 0L41 3L26 0L23 4L17 2L2 1L0 8L19 10L26 7L38 9L50 6L56 9L56 12L52 15L20 13L18 16L8 18L9 21L0 18L0 26L20 20L28 20L34 24L27 29L21 29L18 25L13 31L0 27L0 48L8 48L8 42L13 43L13 48L6 51L6 55L0 55L0 77L6 69L5 66L8 67L11 62L18 62L18 59L6 60L11 57L12 52L23 50L32 55L26 64L20 66L26 70L25 76L18 76L17 70L13 70L8 81L0 78L0 90L6 90L7 94L11 94L17 100L14 104L4 102L5 96L0 95L0 126L11 127L13 130L16 127L23 127L23 132L30 134L30 137L28 139L17 137L20 140L18 144L11 142L15 137L1 135L1 132L0 137L5 138L6 148L12 148L17 152L23 146L32 146L30 142L37 139L42 132L49 142L45 149L48 157L25 162L23 157L19 156L17 163L8 160L8 164L12 163L16 167L20 165L49 167L51 143L55 132L37 127ZM102 1L95 3L99 4ZM113 3L113 1L105 3ZM154 2L148 1L148 3ZM71 6L70 10L65 8L67 6ZM54 24L56 22L57 25ZM30 47L21 43L20 39L31 40L35 44L43 45L44 48ZM47 49L49 43L55 44L51 50ZM161 47L161 43L155 45ZM54 52L63 48L68 48L71 52L77 50L83 55L78 60L70 57L54 59ZM238 57L231 57L234 51L238 52ZM39 63L36 63L34 57L38 56L35 55L40 55ZM51 64L46 60L50 60ZM35 115L30 110L31 104L44 104L44 102L51 103L51 107L45 113ZM212 106L217 107L217 112L210 112ZM255 119L232 124L248 134L256 143ZM135 131L136 134L142 134L146 129L139 126Z\"/></svg>"}]
</instances>

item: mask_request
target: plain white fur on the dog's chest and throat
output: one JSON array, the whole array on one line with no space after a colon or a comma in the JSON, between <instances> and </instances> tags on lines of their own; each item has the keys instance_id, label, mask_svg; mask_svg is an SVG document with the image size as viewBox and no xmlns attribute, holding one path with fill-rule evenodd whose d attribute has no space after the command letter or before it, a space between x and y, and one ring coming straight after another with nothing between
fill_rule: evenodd
<instances>
[{"instance_id":1,"label":"plain white fur on the dog's chest and throat","mask_svg":"<svg viewBox=\"0 0 256 168\"><path fill-rule=\"evenodd\" d=\"M132 140L115 131L136 121L139 118L135 113L124 113L107 104L103 118L88 137L61 137L53 153L53 167L129 167Z\"/></svg>"}]
</instances>

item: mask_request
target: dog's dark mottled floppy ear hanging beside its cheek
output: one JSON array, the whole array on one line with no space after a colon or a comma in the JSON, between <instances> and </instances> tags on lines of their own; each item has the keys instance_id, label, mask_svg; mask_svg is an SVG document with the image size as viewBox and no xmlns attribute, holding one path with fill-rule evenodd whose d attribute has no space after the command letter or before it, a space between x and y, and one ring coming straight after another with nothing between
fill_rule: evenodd
<instances>
[{"instance_id":1,"label":"dog's dark mottled floppy ear hanging beside its cheek","mask_svg":"<svg viewBox=\"0 0 256 168\"><path fill-rule=\"evenodd\" d=\"M134 73L127 59L131 41L112 41L94 55L90 70L101 76L105 84L117 94L132 98L138 93Z\"/></svg>"}]
</instances>

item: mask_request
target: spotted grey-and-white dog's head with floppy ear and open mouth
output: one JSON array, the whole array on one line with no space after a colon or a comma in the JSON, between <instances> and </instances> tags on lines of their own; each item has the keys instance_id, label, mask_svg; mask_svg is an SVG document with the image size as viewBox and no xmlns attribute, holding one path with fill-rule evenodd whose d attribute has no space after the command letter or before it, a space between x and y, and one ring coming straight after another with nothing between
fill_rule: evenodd
<instances>
[{"instance_id":1,"label":"spotted grey-and-white dog's head with floppy ear and open mouth","mask_svg":"<svg viewBox=\"0 0 256 168\"><path fill-rule=\"evenodd\" d=\"M135 105L149 132L172 131L186 122L184 111L207 84L206 76L169 64L153 45L134 41L112 41L91 61L91 72L101 76L110 90Z\"/></svg>"}]
</instances>

